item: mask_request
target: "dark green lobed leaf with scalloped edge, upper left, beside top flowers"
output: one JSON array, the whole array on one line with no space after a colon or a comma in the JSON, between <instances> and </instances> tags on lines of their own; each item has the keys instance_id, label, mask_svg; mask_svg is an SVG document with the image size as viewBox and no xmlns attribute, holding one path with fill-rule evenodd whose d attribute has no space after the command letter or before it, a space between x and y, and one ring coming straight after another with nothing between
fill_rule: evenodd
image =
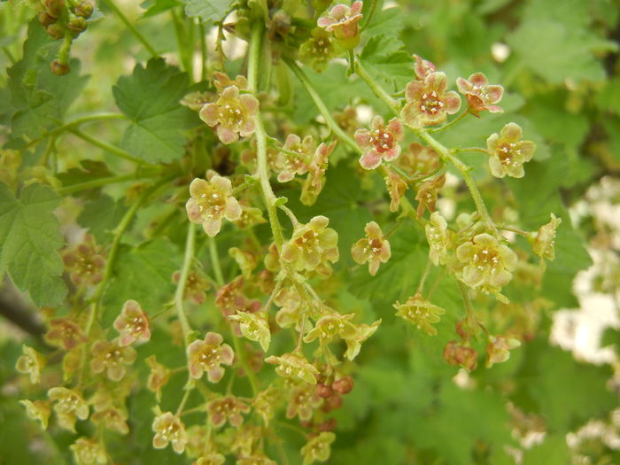
<instances>
[{"instance_id":1,"label":"dark green lobed leaf with scalloped edge, upper left, beside top flowers","mask_svg":"<svg viewBox=\"0 0 620 465\"><path fill-rule=\"evenodd\" d=\"M168 163L183 154L185 137L196 115L179 101L189 89L187 74L153 58L146 68L136 65L134 74L123 76L112 88L120 111L131 120L121 146L151 163Z\"/></svg>"}]
</instances>

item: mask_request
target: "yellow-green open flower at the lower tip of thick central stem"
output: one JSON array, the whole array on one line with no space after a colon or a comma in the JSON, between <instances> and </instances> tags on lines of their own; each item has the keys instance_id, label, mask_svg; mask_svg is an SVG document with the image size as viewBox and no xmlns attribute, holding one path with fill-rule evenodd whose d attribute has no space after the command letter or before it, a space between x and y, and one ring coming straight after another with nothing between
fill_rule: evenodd
<instances>
[{"instance_id":1,"label":"yellow-green open flower at the lower tip of thick central stem","mask_svg":"<svg viewBox=\"0 0 620 465\"><path fill-rule=\"evenodd\" d=\"M329 219L314 216L307 224L293 230L291 240L283 244L282 260L292 263L297 271L316 271L319 275L331 275L331 265L339 258L338 233L328 228Z\"/></svg>"}]
</instances>

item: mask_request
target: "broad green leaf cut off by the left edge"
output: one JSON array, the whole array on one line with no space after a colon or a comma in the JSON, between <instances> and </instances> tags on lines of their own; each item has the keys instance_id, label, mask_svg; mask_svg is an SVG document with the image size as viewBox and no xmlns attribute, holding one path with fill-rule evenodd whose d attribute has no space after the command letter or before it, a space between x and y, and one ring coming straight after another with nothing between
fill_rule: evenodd
<instances>
[{"instance_id":1,"label":"broad green leaf cut off by the left edge","mask_svg":"<svg viewBox=\"0 0 620 465\"><path fill-rule=\"evenodd\" d=\"M66 296L58 253L65 241L52 213L59 203L58 195L43 184L30 184L15 198L0 183L0 270L8 270L13 283L37 306L58 305Z\"/></svg>"}]
</instances>

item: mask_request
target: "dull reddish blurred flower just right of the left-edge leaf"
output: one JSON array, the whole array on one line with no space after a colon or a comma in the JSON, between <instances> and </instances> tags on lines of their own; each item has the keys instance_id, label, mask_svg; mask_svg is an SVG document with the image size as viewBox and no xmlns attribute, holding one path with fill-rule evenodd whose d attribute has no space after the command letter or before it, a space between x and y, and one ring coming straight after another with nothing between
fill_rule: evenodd
<instances>
[{"instance_id":1,"label":"dull reddish blurred flower just right of the left-edge leaf","mask_svg":"<svg viewBox=\"0 0 620 465\"><path fill-rule=\"evenodd\" d=\"M76 286L93 286L104 279L105 259L99 251L95 238L87 234L84 242L63 253L65 268Z\"/></svg>"}]
</instances>

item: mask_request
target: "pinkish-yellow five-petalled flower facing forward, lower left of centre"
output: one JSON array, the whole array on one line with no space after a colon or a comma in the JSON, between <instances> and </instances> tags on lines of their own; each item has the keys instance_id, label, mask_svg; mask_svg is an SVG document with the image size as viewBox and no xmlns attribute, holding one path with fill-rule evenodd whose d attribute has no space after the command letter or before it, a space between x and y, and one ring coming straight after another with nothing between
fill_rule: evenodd
<instances>
[{"instance_id":1,"label":"pinkish-yellow five-petalled flower facing forward, lower left of centre","mask_svg":"<svg viewBox=\"0 0 620 465\"><path fill-rule=\"evenodd\" d=\"M205 340L194 341L187 348L187 360L190 376L195 379L206 378L211 383L217 383L224 376L221 364L232 365L235 354L230 345L222 344L224 338L218 333L208 332Z\"/></svg>"}]
</instances>

